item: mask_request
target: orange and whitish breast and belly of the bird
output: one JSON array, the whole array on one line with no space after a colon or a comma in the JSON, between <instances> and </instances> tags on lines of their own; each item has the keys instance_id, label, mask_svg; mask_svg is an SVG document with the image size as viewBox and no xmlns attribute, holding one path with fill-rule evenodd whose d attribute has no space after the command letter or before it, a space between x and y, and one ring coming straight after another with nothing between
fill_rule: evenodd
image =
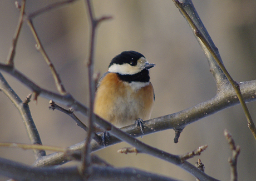
<instances>
[{"instance_id":1,"label":"orange and whitish breast and belly of the bird","mask_svg":"<svg viewBox=\"0 0 256 181\"><path fill-rule=\"evenodd\" d=\"M122 82L117 74L108 73L100 82L95 95L94 112L117 127L150 119L154 103L152 84L138 90Z\"/></svg>"}]
</instances>

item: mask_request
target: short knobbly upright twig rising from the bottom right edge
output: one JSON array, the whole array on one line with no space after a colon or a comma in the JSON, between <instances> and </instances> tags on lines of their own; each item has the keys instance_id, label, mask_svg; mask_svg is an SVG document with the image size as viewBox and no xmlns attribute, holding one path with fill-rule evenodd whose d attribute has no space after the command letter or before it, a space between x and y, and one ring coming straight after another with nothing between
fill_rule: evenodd
<instances>
[{"instance_id":1,"label":"short knobbly upright twig rising from the bottom right edge","mask_svg":"<svg viewBox=\"0 0 256 181\"><path fill-rule=\"evenodd\" d=\"M230 181L237 181L238 180L238 174L237 174L237 160L238 155L240 153L240 147L239 145L235 145L235 141L232 138L231 133L225 129L224 135L226 139L228 140L230 150L232 151L232 156L229 157L228 162L230 164Z\"/></svg>"}]
</instances>

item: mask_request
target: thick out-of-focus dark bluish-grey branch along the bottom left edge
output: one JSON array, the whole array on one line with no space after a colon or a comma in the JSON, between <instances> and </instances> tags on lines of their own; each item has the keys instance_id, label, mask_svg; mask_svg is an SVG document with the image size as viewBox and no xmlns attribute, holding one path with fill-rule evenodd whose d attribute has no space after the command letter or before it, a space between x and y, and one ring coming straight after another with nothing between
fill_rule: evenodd
<instances>
[{"instance_id":1,"label":"thick out-of-focus dark bluish-grey branch along the bottom left edge","mask_svg":"<svg viewBox=\"0 0 256 181\"><path fill-rule=\"evenodd\" d=\"M92 166L92 172L89 177L85 174L79 174L77 167L46 167L37 168L13 162L12 160L0 158L0 174L17 181L63 181L63 180L141 180L141 181L178 181L163 175L152 174L134 168L112 168Z\"/></svg>"}]
</instances>

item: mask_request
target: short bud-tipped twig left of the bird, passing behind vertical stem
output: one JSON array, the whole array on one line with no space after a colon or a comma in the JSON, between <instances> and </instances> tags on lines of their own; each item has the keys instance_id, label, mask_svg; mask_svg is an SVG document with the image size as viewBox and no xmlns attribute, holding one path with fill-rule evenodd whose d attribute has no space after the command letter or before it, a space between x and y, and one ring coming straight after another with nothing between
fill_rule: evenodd
<instances>
[{"instance_id":1,"label":"short bud-tipped twig left of the bird, passing behind vertical stem","mask_svg":"<svg viewBox=\"0 0 256 181\"><path fill-rule=\"evenodd\" d=\"M83 130L87 131L88 128L85 124L83 124L83 122L81 122L81 120L79 118L77 118L76 114L73 113L73 109L64 109L62 107L60 107L60 105L57 105L53 100L50 100L50 106L48 107L49 109L52 110L60 110L62 113L65 113L67 115L69 115L73 120L75 120L76 124L78 125L78 127L81 127ZM97 135L96 133L93 133L92 138L99 144L101 144L102 142L102 138L100 135Z\"/></svg>"}]
</instances>

